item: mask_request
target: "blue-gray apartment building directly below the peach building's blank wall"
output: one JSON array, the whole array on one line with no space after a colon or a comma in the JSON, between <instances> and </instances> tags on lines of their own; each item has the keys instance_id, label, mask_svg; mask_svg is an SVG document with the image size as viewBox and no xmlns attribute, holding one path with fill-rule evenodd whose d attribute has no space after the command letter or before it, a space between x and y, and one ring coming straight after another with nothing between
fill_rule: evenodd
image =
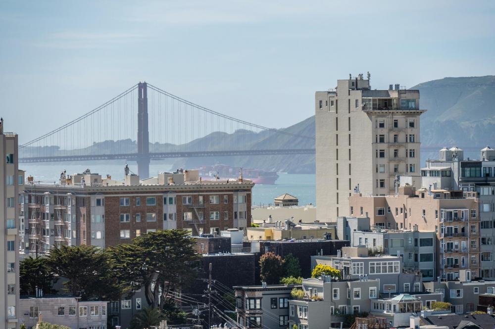
<instances>
[{"instance_id":1,"label":"blue-gray apartment building directly below the peach building's blank wall","mask_svg":"<svg viewBox=\"0 0 495 329\"><path fill-rule=\"evenodd\" d=\"M420 271L423 281L436 279L435 232L417 230L375 230L352 232L351 246L366 246L368 250L396 255L402 259L404 270Z\"/></svg>"}]
</instances>

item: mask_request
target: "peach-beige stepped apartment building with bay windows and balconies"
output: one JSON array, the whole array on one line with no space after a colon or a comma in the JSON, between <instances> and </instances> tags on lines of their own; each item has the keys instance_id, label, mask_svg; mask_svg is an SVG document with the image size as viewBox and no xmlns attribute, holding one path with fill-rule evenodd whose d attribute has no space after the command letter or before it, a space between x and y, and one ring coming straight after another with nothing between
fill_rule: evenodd
<instances>
[{"instance_id":1,"label":"peach-beige stepped apartment building with bay windows and balconies","mask_svg":"<svg viewBox=\"0 0 495 329\"><path fill-rule=\"evenodd\" d=\"M365 215L375 228L435 231L436 275L447 280L459 277L459 269L480 275L480 225L475 192L447 191L401 186L387 196L349 197L349 212ZM394 241L384 241L386 248ZM419 261L421 262L421 254ZM429 261L425 259L425 261Z\"/></svg>"}]
</instances>

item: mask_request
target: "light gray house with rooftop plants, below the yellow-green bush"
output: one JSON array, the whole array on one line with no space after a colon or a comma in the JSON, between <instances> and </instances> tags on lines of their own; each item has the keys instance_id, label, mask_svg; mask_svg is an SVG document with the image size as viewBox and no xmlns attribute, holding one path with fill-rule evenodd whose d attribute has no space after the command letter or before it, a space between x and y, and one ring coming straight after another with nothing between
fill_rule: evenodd
<instances>
[{"instance_id":1,"label":"light gray house with rooftop plants, below the yellow-green bush","mask_svg":"<svg viewBox=\"0 0 495 329\"><path fill-rule=\"evenodd\" d=\"M342 328L345 315L370 311L370 300L378 298L379 285L379 280L304 279L304 297L289 301L289 328Z\"/></svg>"}]
</instances>

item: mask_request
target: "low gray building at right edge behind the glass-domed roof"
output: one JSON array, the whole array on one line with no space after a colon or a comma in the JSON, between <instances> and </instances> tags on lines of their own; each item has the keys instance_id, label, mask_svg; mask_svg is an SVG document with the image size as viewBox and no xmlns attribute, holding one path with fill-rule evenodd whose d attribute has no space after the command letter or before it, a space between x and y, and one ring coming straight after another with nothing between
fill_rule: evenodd
<instances>
[{"instance_id":1,"label":"low gray building at right edge behind the glass-domed roof","mask_svg":"<svg viewBox=\"0 0 495 329\"><path fill-rule=\"evenodd\" d=\"M480 294L495 294L495 281L473 280L471 271L467 269L459 270L458 280L437 280L423 285L428 292L441 292L443 301L452 304L451 312L457 314L476 311Z\"/></svg>"}]
</instances>

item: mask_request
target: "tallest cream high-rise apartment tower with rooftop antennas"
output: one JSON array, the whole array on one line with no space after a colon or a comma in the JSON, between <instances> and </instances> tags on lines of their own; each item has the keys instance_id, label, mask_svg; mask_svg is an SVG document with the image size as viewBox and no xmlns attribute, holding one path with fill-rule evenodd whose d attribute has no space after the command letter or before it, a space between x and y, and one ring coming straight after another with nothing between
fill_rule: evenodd
<instances>
[{"instance_id":1,"label":"tallest cream high-rise apartment tower with rooftop antennas","mask_svg":"<svg viewBox=\"0 0 495 329\"><path fill-rule=\"evenodd\" d=\"M395 192L397 175L419 176L419 91L371 90L369 73L315 93L316 217L348 216L348 197ZM418 177L418 183L420 179Z\"/></svg>"}]
</instances>

